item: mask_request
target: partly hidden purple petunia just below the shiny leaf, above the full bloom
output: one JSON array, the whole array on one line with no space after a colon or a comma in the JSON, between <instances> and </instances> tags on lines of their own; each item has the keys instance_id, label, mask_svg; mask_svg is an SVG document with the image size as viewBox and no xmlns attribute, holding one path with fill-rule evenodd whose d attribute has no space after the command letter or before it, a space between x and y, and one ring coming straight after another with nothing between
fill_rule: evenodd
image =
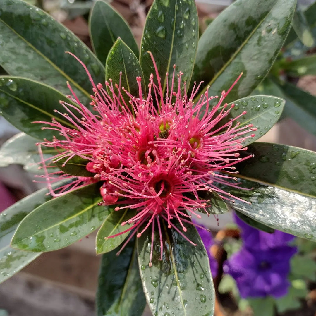
<instances>
[{"instance_id":1,"label":"partly hidden purple petunia just below the shiny leaf, above the full bloom","mask_svg":"<svg viewBox=\"0 0 316 316\"><path fill-rule=\"evenodd\" d=\"M295 236L275 230L273 234L269 234L253 228L243 222L236 214L234 221L241 229L241 239L247 249L267 250L279 246L286 246L287 243L295 238Z\"/></svg>"}]
</instances>

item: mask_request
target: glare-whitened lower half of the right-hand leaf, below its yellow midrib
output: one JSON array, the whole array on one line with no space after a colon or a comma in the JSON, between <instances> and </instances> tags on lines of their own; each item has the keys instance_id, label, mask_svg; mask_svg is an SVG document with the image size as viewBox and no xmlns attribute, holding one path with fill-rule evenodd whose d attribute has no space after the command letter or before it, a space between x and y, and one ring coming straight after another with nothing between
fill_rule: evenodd
<instances>
[{"instance_id":1,"label":"glare-whitened lower half of the right-hand leaf, below its yellow midrib","mask_svg":"<svg viewBox=\"0 0 316 316\"><path fill-rule=\"evenodd\" d=\"M240 182L240 187L251 190L227 187L226 191L251 204L235 199L233 209L268 227L316 241L315 198L245 179Z\"/></svg>"}]
</instances>

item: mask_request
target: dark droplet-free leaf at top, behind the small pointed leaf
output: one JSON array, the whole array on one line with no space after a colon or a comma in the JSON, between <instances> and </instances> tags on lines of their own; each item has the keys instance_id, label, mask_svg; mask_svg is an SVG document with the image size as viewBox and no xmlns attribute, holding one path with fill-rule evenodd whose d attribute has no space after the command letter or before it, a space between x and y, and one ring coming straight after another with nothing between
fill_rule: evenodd
<instances>
[{"instance_id":1,"label":"dark droplet-free leaf at top, behind the small pointed leaf","mask_svg":"<svg viewBox=\"0 0 316 316\"><path fill-rule=\"evenodd\" d=\"M89 30L93 50L102 64L115 41L120 37L138 56L139 51L132 31L118 11L105 1L98 0L89 17Z\"/></svg>"}]
</instances>

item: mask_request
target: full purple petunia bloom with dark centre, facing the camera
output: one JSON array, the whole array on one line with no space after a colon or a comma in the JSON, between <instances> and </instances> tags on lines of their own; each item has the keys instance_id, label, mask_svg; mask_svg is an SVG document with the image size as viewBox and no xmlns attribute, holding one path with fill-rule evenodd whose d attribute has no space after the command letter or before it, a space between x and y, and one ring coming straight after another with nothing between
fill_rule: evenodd
<instances>
[{"instance_id":1,"label":"full purple petunia bloom with dark centre, facing the camera","mask_svg":"<svg viewBox=\"0 0 316 316\"><path fill-rule=\"evenodd\" d=\"M264 251L242 248L225 262L223 269L236 280L242 298L279 298L287 294L289 260L295 252L296 248L290 246Z\"/></svg>"}]
</instances>

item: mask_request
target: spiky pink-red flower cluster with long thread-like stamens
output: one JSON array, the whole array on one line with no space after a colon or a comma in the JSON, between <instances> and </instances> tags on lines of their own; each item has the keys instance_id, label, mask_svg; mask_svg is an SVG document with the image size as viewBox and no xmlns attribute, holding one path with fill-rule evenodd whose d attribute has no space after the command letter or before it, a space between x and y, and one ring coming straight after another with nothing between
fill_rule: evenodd
<instances>
[{"instance_id":1,"label":"spiky pink-red flower cluster with long thread-like stamens","mask_svg":"<svg viewBox=\"0 0 316 316\"><path fill-rule=\"evenodd\" d=\"M197 209L208 213L210 201L200 198L199 191L214 191L224 200L241 200L220 187L228 185L239 188L240 183L234 177L235 164L251 157L241 158L240 151L247 149L243 143L245 139L253 137L253 131L257 129L251 124L240 126L238 118L246 112L234 119L222 121L234 107L234 104L228 106L224 103L224 99L242 74L227 92L222 92L220 98L209 96L207 88L194 104L199 85L194 85L190 96L186 92L182 95L180 72L178 88L174 91L175 66L171 87L167 84L167 93L163 95L157 66L152 54L149 54L158 85L152 74L146 99L143 98L141 77L136 78L138 96L129 94L120 82L115 85L118 90L115 93L112 80L105 82L107 89L101 83L95 85L87 67L71 54L82 64L93 86L94 95L91 95L90 103L93 110L80 102L67 83L72 93L68 97L76 105L60 101L66 113L59 114L74 128L64 127L54 119L52 122L35 123L45 123L49 126L44 128L56 130L56 135L62 136L39 144L40 154L41 145L54 147L61 153L49 160L45 160L41 154L44 178L52 196L60 196L66 191L100 181L103 205L116 204L115 211L137 209L134 217L122 223L122 226L128 223L131 227L119 234L130 230L132 233L118 254L134 234L138 232L137 237L140 237L151 225L152 239L155 227L159 232L162 259L160 219L167 221L169 228L177 230L194 244L183 232L186 232L185 224L191 224L192 215L201 217L196 213ZM129 103L125 102L122 93L130 97ZM209 102L216 98L217 104L210 107ZM218 127L221 122L225 123ZM93 178L76 178L62 171L48 172L50 162L64 161L66 158L65 165L74 156L89 160L87 170L94 173ZM52 182L67 178L73 179L73 182L58 190L52 189ZM179 221L183 232L174 225L173 219ZM142 229L137 229L141 226ZM152 254L153 242L149 266L152 265Z\"/></svg>"}]
</instances>

